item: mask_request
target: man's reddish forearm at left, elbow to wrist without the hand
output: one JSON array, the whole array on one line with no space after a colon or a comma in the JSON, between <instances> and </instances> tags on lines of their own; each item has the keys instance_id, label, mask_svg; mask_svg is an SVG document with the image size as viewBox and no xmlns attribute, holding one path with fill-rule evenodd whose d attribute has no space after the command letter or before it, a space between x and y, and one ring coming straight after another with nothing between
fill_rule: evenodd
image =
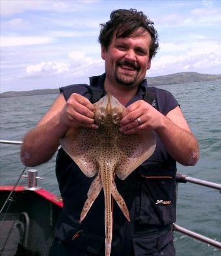
<instances>
[{"instance_id":1,"label":"man's reddish forearm at left, elbow to wrist without the hand","mask_svg":"<svg viewBox=\"0 0 221 256\"><path fill-rule=\"evenodd\" d=\"M58 115L36 126L23 139L21 162L26 166L35 166L50 160L66 130L67 128L59 122Z\"/></svg>"}]
</instances>

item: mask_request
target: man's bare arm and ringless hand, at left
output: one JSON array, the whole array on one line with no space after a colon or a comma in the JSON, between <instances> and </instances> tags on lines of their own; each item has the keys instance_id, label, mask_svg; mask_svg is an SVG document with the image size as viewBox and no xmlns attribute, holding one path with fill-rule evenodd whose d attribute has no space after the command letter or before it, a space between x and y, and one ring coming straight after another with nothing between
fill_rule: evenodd
<instances>
[{"instance_id":1,"label":"man's bare arm and ringless hand, at left","mask_svg":"<svg viewBox=\"0 0 221 256\"><path fill-rule=\"evenodd\" d=\"M21 147L23 164L35 166L48 161L59 147L59 139L72 126L97 128L94 106L79 94L72 94L67 102L60 94L38 125L25 135Z\"/></svg>"}]
</instances>

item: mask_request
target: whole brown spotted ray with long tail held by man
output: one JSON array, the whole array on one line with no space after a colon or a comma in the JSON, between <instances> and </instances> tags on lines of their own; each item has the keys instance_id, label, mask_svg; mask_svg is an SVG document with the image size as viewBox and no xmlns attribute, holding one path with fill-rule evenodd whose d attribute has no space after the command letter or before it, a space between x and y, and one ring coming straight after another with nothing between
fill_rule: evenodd
<instances>
[{"instance_id":1,"label":"whole brown spotted ray with long tail held by man","mask_svg":"<svg viewBox=\"0 0 221 256\"><path fill-rule=\"evenodd\" d=\"M129 211L114 182L114 173L124 180L155 150L155 134L143 130L139 134L119 132L119 122L125 107L107 94L94 104L94 120L98 130L71 128L60 140L62 148L87 177L96 177L88 190L88 198L80 222L103 188L105 195L105 255L110 255L112 241L111 196L129 221Z\"/></svg>"}]
</instances>

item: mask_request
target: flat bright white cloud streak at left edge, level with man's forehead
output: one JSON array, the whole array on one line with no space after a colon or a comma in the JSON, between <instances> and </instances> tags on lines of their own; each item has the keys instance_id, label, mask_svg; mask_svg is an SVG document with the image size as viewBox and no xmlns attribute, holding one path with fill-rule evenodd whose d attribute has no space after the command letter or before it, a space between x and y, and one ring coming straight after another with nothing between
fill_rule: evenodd
<instances>
[{"instance_id":1,"label":"flat bright white cloud streak at left edge, level with man's forehead","mask_svg":"<svg viewBox=\"0 0 221 256\"><path fill-rule=\"evenodd\" d=\"M54 38L48 36L2 36L1 47L33 46L37 44L51 44Z\"/></svg>"}]
</instances>

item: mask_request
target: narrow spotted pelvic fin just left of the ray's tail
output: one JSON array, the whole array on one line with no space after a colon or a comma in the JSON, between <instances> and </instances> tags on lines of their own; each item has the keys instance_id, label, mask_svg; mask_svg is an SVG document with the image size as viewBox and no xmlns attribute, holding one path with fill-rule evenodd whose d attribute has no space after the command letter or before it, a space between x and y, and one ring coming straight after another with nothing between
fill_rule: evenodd
<instances>
[{"instance_id":1,"label":"narrow spotted pelvic fin just left of the ray's tail","mask_svg":"<svg viewBox=\"0 0 221 256\"><path fill-rule=\"evenodd\" d=\"M88 210L90 210L90 207L93 205L95 199L98 197L99 193L101 192L102 187L103 186L102 186L101 178L98 175L96 178L94 178L88 190L88 198L86 199L85 205L83 206L80 222L84 220L86 214L88 213Z\"/></svg>"}]
</instances>

